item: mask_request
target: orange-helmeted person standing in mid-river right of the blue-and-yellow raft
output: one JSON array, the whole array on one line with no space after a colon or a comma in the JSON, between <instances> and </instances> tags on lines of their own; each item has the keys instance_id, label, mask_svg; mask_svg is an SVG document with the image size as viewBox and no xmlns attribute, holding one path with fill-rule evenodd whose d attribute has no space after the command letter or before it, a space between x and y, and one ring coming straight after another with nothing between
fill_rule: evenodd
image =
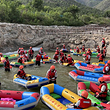
<instances>
[{"instance_id":1,"label":"orange-helmeted person standing in mid-river right of the blue-and-yellow raft","mask_svg":"<svg viewBox=\"0 0 110 110\"><path fill-rule=\"evenodd\" d=\"M52 65L50 69L47 71L46 77L49 79L49 84L54 83L56 84L57 79L57 71L55 70L55 66Z\"/></svg>"}]
</instances>

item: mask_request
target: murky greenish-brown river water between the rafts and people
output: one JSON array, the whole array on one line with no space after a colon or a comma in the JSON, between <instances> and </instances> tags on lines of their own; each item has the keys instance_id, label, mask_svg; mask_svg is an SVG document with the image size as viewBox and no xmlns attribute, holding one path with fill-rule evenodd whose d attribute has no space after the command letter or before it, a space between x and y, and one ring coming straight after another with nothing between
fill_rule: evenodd
<instances>
[{"instance_id":1,"label":"murky greenish-brown river water between the rafts and people","mask_svg":"<svg viewBox=\"0 0 110 110\"><path fill-rule=\"evenodd\" d=\"M38 53L39 48L34 48L34 50L35 50L35 55L36 55ZM49 55L52 58L54 52L52 52L52 51L45 51L45 52L47 55ZM13 53L17 53L17 51L8 52L5 54L13 54ZM71 56L73 57L74 60L82 60L83 61L82 56L73 56L73 55L71 55ZM108 58L106 58L105 60L108 60ZM14 60L14 61L16 61L16 60ZM91 63L92 62L98 62L98 59L92 58ZM45 77L46 72L50 68L51 65L52 65L52 63L41 64L41 67L37 67L37 68L35 66L29 66L29 67L24 68L24 70L26 73L29 73L32 75ZM78 82L71 79L68 75L68 73L75 68L63 67L59 64L54 64L54 65L55 65L57 73L58 73L57 84L76 93ZM18 71L18 68L13 67L10 72L5 72L4 68L0 67L1 90L17 90L17 91L30 91L30 92L40 93L40 87L33 88L33 89L26 89L20 85L13 83L13 76L15 73L17 73L17 71ZM49 108L47 106L45 106L41 101L39 101L38 105L31 110L49 110Z\"/></svg>"}]
</instances>

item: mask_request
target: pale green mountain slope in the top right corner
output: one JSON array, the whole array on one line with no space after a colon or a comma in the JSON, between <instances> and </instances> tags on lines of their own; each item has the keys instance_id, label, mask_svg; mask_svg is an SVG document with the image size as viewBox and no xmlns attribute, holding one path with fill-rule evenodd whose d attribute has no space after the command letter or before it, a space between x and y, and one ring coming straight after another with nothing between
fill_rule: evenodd
<instances>
[{"instance_id":1,"label":"pale green mountain slope in the top right corner","mask_svg":"<svg viewBox=\"0 0 110 110\"><path fill-rule=\"evenodd\" d=\"M96 5L95 8L102 11L110 10L110 0L103 0L98 5Z\"/></svg>"}]
</instances>

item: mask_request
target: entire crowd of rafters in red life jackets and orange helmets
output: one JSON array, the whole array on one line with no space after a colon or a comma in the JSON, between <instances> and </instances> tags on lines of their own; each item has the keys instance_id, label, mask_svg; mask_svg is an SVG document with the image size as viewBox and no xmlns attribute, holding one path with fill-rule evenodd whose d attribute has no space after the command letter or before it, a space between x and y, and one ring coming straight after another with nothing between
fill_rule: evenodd
<instances>
[{"instance_id":1,"label":"entire crowd of rafters in red life jackets and orange helmets","mask_svg":"<svg viewBox=\"0 0 110 110\"><path fill-rule=\"evenodd\" d=\"M99 46L97 46L97 48L96 48L97 53L99 53L98 54L99 62L103 62L104 58L106 57L107 49L106 49L105 43L106 43L105 39L103 38L101 49L99 48ZM65 45L63 45L63 49L65 49L65 48L66 48ZM84 45L82 46L81 50L77 46L75 49L75 52L79 53L80 51L85 52L85 54L86 54L85 55L85 63L90 64L91 55L92 55L90 48L88 48L86 51ZM24 62L31 61L33 59L34 50L32 49L32 47L30 47L28 51L24 51L23 48L19 48L18 54L20 55L20 57L18 58L17 62L20 63L21 65L19 66L19 70L17 72L17 77L22 78L22 79L26 79L26 80L31 80L31 76L27 77L27 75L24 71L24 66L22 64ZM2 57L2 53L0 53L0 59L1 59L1 57ZM40 61L43 60L43 58L48 58L48 57L45 54L45 52L43 51L43 48L41 47L40 50L38 51L38 54L35 56L35 59L36 59L35 65L40 66ZM8 57L5 57L5 59L6 59L4 62L5 71L10 71L10 63L9 63ZM66 66L74 64L74 59L71 57L71 55L64 54L63 51L59 50L58 47L56 48L55 54L53 55L53 60L55 62L59 62L61 65L63 65L63 63L67 63ZM110 71L110 60L108 60L108 62L105 64L104 69L103 69L103 73L108 74L109 71ZM57 70L54 65L50 66L50 69L46 73L46 77L48 78L49 83L54 83L54 84L57 83L56 82ZM97 89L95 97L99 98L99 99L100 98L105 99L107 96L107 90L108 90L107 83L104 81L103 77L100 77L98 79L98 81L99 81L100 85ZM68 108L77 108L77 109L83 108L84 109L84 108L90 107L91 105L97 106L96 103L93 104L90 99L87 99L87 97L88 97L87 91L83 91L81 93L81 97L82 98L79 99L76 104L70 104L70 105L67 105L67 107Z\"/></svg>"}]
</instances>

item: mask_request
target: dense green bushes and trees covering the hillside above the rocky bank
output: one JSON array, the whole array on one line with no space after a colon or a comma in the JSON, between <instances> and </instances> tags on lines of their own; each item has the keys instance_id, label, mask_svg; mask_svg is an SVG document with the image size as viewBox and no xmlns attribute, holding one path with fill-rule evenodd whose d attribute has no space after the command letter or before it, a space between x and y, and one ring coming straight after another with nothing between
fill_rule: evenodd
<instances>
[{"instance_id":1,"label":"dense green bushes and trees covering the hillside above the rocky bank","mask_svg":"<svg viewBox=\"0 0 110 110\"><path fill-rule=\"evenodd\" d=\"M81 26L109 24L108 12L73 0L1 0L0 22L31 25Z\"/></svg>"}]
</instances>

